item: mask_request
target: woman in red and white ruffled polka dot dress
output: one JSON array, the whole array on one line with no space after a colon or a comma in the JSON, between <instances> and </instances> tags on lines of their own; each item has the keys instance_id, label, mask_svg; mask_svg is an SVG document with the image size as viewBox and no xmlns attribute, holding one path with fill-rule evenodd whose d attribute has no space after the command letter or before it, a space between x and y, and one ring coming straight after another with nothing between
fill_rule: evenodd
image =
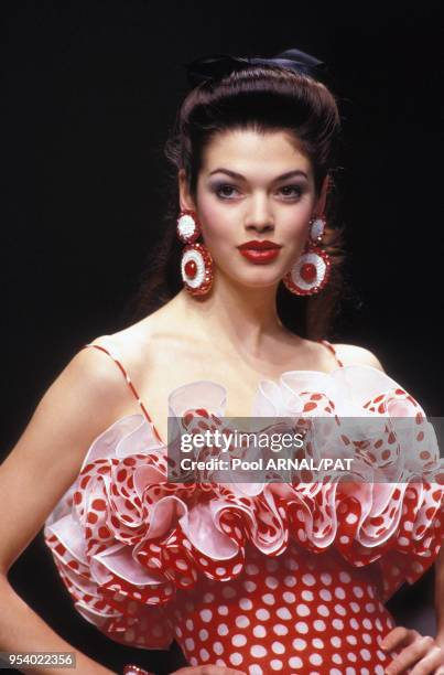
<instances>
[{"instance_id":1,"label":"woman in red and white ruffled polka dot dress","mask_svg":"<svg viewBox=\"0 0 444 675\"><path fill-rule=\"evenodd\" d=\"M443 602L433 433L371 352L324 339L340 291L325 215L339 115L318 65L297 50L188 65L166 148L178 178L167 294L154 272L148 286L164 303L79 350L1 467L2 650L69 651L7 581L44 523L80 614L143 650L175 639L183 674L443 672L442 613L423 638L383 604L435 560ZM400 409L421 425L414 439ZM392 418L371 452L335 428L335 453L360 462L348 482L174 480L177 421L193 437L226 429L223 416L335 411L339 427L340 415ZM108 672L76 654L79 672Z\"/></svg>"}]
</instances>

